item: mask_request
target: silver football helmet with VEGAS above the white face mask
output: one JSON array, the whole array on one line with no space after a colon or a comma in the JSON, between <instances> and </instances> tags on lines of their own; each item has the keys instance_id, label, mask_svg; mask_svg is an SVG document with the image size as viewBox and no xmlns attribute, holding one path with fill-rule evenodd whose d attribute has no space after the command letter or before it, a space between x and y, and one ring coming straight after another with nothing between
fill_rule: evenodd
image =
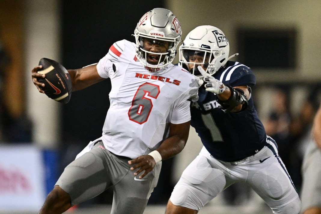
<instances>
[{"instance_id":1,"label":"silver football helmet with VEGAS above the white face mask","mask_svg":"<svg viewBox=\"0 0 321 214\"><path fill-rule=\"evenodd\" d=\"M181 41L182 30L180 23L174 14L163 8L154 8L143 15L134 30L136 39L136 57L139 61L151 68L160 68L173 62L176 48ZM143 39L155 39L169 42L169 49L165 53L153 53L143 47ZM157 65L147 63L147 53L160 55ZM165 59L162 60L162 56Z\"/></svg>"}]
</instances>

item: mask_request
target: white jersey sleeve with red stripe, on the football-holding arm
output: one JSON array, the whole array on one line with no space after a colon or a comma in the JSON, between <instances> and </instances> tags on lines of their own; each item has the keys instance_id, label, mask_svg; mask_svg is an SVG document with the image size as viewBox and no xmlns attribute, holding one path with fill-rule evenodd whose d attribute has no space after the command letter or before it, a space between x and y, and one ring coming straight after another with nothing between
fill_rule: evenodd
<instances>
[{"instance_id":1,"label":"white jersey sleeve with red stripe, on the football-holding arm","mask_svg":"<svg viewBox=\"0 0 321 214\"><path fill-rule=\"evenodd\" d=\"M118 67L119 57L125 49L124 41L125 40L115 42L110 46L106 56L99 60L97 71L101 77L110 78L110 76L114 74L113 67Z\"/></svg>"}]
</instances>

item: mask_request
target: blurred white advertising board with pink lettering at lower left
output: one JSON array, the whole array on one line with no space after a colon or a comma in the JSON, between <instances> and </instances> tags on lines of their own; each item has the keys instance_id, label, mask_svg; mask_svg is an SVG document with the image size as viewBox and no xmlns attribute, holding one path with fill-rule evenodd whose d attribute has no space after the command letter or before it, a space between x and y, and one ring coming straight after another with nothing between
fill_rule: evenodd
<instances>
[{"instance_id":1,"label":"blurred white advertising board with pink lettering at lower left","mask_svg":"<svg viewBox=\"0 0 321 214\"><path fill-rule=\"evenodd\" d=\"M29 144L0 144L0 213L38 212L47 195L45 171L43 150Z\"/></svg>"}]
</instances>

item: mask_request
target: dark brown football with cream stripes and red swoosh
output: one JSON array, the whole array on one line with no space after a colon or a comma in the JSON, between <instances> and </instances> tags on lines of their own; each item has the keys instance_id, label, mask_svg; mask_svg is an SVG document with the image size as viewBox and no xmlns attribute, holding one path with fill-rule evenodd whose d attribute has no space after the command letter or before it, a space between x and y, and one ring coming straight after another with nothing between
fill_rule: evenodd
<instances>
[{"instance_id":1,"label":"dark brown football with cream stripes and red swoosh","mask_svg":"<svg viewBox=\"0 0 321 214\"><path fill-rule=\"evenodd\" d=\"M72 85L68 71L60 63L48 58L41 58L39 65L42 68L38 73L45 74L45 78L38 78L38 82L44 83L41 87L45 94L58 102L68 103L71 97Z\"/></svg>"}]
</instances>

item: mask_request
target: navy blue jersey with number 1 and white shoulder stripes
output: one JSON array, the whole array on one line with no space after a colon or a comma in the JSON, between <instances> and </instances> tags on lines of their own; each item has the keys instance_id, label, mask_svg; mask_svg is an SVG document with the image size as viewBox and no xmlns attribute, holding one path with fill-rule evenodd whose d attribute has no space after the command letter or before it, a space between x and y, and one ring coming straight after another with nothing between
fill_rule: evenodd
<instances>
[{"instance_id":1,"label":"navy blue jersey with number 1 and white shoulder stripes","mask_svg":"<svg viewBox=\"0 0 321 214\"><path fill-rule=\"evenodd\" d=\"M225 85L253 86L256 83L253 72L238 62L228 61L213 75ZM191 103L191 125L200 136L205 148L214 158L232 162L256 154L266 143L263 124L257 116L253 99L240 113L225 113L216 102L217 96L205 90L198 90L199 100Z\"/></svg>"}]
</instances>

